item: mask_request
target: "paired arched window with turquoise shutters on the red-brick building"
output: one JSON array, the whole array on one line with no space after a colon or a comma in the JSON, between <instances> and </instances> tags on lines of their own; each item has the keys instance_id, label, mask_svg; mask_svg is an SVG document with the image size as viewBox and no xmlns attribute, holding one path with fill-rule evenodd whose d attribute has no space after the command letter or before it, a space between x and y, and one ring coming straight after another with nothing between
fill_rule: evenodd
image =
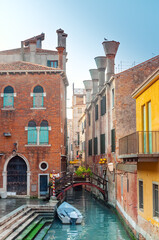
<instances>
[{"instance_id":1,"label":"paired arched window with turquoise shutters on the red-brick building","mask_svg":"<svg viewBox=\"0 0 159 240\"><path fill-rule=\"evenodd\" d=\"M28 145L48 145L49 143L49 130L51 127L48 126L48 122L43 120L40 127L36 126L35 121L28 123Z\"/></svg>"}]
</instances>

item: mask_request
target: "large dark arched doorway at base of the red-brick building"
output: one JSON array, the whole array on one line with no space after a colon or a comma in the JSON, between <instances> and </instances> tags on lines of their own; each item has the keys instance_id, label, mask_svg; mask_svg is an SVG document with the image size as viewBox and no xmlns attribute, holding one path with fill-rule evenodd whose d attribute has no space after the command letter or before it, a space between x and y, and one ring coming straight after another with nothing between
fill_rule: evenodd
<instances>
[{"instance_id":1,"label":"large dark arched doorway at base of the red-brick building","mask_svg":"<svg viewBox=\"0 0 159 240\"><path fill-rule=\"evenodd\" d=\"M7 192L27 194L27 165L19 156L13 157L7 165Z\"/></svg>"}]
</instances>

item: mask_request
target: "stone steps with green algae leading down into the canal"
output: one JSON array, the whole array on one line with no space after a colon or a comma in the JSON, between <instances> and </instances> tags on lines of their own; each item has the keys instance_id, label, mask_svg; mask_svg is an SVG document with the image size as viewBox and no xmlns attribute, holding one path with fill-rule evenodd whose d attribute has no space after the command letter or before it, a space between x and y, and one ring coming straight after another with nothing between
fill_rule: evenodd
<instances>
[{"instance_id":1,"label":"stone steps with green algae leading down into the canal","mask_svg":"<svg viewBox=\"0 0 159 240\"><path fill-rule=\"evenodd\" d=\"M17 208L0 219L0 240L43 239L55 218L55 208L52 205Z\"/></svg>"}]
</instances>

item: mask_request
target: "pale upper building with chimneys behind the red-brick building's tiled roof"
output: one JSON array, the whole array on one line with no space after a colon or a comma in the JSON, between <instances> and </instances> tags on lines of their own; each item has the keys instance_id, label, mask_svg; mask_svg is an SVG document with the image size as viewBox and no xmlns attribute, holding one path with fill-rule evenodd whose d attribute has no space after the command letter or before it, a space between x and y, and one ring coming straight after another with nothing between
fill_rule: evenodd
<instances>
[{"instance_id":1,"label":"pale upper building with chimneys behind the red-brick building's tiled roof","mask_svg":"<svg viewBox=\"0 0 159 240\"><path fill-rule=\"evenodd\" d=\"M37 63L52 68L61 68L66 71L66 38L67 34L64 30L57 31L57 50L48 50L42 48L42 41L45 39L45 34L21 41L21 47L11 50L0 51L0 63L12 63L15 61L25 61ZM61 48L61 49L59 49ZM59 51L61 57L59 58ZM62 66L60 64L62 63Z\"/></svg>"}]
</instances>

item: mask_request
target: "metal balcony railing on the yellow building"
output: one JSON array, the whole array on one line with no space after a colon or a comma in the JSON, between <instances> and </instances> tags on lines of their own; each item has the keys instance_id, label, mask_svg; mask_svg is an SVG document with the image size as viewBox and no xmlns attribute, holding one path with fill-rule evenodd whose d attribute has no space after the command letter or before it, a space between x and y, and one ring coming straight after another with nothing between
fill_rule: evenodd
<instances>
[{"instance_id":1,"label":"metal balcony railing on the yellow building","mask_svg":"<svg viewBox=\"0 0 159 240\"><path fill-rule=\"evenodd\" d=\"M119 139L119 155L159 153L159 131L139 131Z\"/></svg>"}]
</instances>

